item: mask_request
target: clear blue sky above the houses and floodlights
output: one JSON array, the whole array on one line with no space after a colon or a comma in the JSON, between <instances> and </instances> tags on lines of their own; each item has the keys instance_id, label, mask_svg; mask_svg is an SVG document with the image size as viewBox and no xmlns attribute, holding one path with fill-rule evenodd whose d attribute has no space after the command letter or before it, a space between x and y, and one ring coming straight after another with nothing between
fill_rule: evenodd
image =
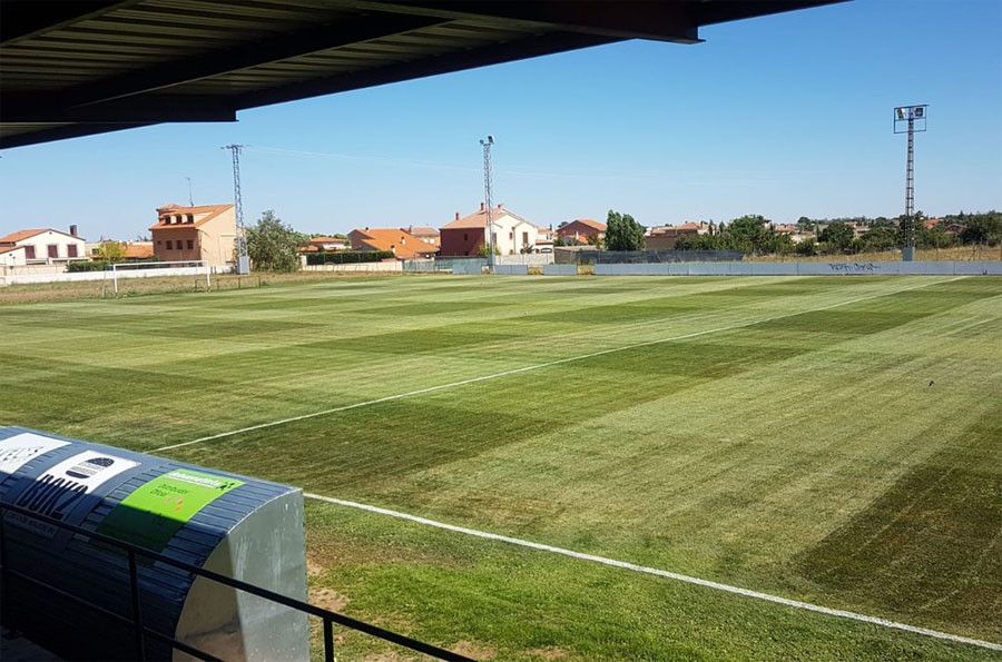
<instances>
[{"instance_id":1,"label":"clear blue sky above the houses and floodlights","mask_svg":"<svg viewBox=\"0 0 1002 662\"><path fill-rule=\"evenodd\" d=\"M645 225L763 214L896 216L905 138L892 109L929 103L916 208L1002 208L1002 0L856 0L704 28L705 43L631 41L243 111L9 149L0 234L73 223L135 238L155 208L232 201L296 229L441 226L482 199L540 225L608 209Z\"/></svg>"}]
</instances>

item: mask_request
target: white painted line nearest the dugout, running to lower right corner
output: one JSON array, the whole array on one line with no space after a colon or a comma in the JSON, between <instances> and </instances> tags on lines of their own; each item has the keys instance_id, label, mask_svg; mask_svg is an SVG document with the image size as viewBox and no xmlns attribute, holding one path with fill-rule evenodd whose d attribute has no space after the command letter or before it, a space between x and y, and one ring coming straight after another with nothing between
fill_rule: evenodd
<instances>
[{"instance_id":1,"label":"white painted line nearest the dugout, running to lower right corner","mask_svg":"<svg viewBox=\"0 0 1002 662\"><path fill-rule=\"evenodd\" d=\"M752 591L750 589L741 589L740 586L731 586L730 584L721 584L720 582L713 582L710 580L701 580L699 577L694 577L690 575L685 575L685 574L671 572L668 570L660 570L658 567L648 567L646 565L637 565L636 563L630 563L628 561L617 561L616 559L608 559L606 556L597 556L595 554L586 554L583 552L574 552L573 550L566 550L563 547L554 547L553 545L534 543L532 541L527 541L527 540L522 540L522 539L518 539L518 537L511 537L508 535L501 535L498 533L488 533L487 531L478 531L475 528L466 528L464 526L456 526L454 524L445 524L444 522L436 522L434 520L429 520L426 517L420 517L418 515L410 515L407 513L391 511L389 508L381 508L379 506L371 506L371 505L366 505L364 503L357 503L354 501L345 501L343 498L335 498L333 496L323 496L321 494L312 494L308 492L305 493L304 496L306 496L306 498L313 498L315 501L322 501L322 502L331 503L334 505L345 506L345 507L350 507L350 508L357 508L360 511L366 511L369 513L375 513L379 515L387 515L390 517L396 517L399 520L406 520L407 522L413 522L415 524L423 524L425 526L432 526L434 528L442 528L444 531L451 531L453 533L462 533L464 535L471 535L471 536L480 537L480 539L484 539L484 540L508 543L508 544L517 545L520 547L528 547L530 550L537 550L539 552L549 552L551 554L560 554L561 556L569 556L571 559L577 559L579 561L588 561L590 563L598 563L598 564L607 565L610 567L618 567L618 569L628 570L631 572L655 575L655 576L659 576L659 577L664 577L664 579L668 579L668 580L674 580L677 582L684 582L686 584L695 584L697 586L703 586L705 589L713 589L715 591L733 593L735 595L741 595L744 597L750 597L753 600L760 600L764 602L772 602L774 604L782 604L784 606L789 606L793 609L804 610L804 611L808 611L808 612L815 612L818 614L825 614L827 616L835 616L838 619L848 619L851 621L859 621L863 623L870 623L871 625L878 625L881 628L888 628L892 630L901 630L903 632L911 632L913 634L931 636L933 639L939 639L942 641L969 644L972 646L988 649L990 651L1002 651L1002 644L998 644L998 643L994 643L991 641L982 641L980 639L972 639L970 636L961 636L960 634L951 634L949 632L940 632L939 630L930 630L929 628L920 628L918 625L908 625L907 623L898 623L896 621L888 621L887 619L881 619L878 616L870 616L866 614L859 614L859 613L849 612L846 610L832 609L828 606L822 606L819 604L813 604L811 602L802 602L799 600L790 600L789 597L782 597L779 595L773 595L770 593L763 593L760 591Z\"/></svg>"}]
</instances>

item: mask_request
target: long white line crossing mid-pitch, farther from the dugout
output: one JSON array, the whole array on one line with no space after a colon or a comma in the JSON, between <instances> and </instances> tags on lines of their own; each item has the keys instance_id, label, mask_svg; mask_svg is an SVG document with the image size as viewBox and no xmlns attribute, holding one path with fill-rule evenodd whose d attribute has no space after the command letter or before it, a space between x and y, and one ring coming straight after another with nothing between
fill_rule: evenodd
<instances>
[{"instance_id":1,"label":"long white line crossing mid-pitch, farther from the dugout","mask_svg":"<svg viewBox=\"0 0 1002 662\"><path fill-rule=\"evenodd\" d=\"M407 393L397 393L394 395L386 395L384 397L377 397L375 399L370 399L361 403L355 403L352 405L342 405L340 407L331 407L330 409L322 409L320 412L312 412L310 414L302 414L299 416L291 416L288 418L281 418L278 421L269 421L267 423L261 423L257 425L249 425L247 427L240 427L239 429L230 429L228 432L220 432L218 434L208 435L205 437L198 437L197 439L191 439L190 442L181 442L180 444L170 444L169 446L160 446L159 448L154 448L150 453L159 453L161 451L173 451L174 448L183 448L185 446L190 446L193 444L202 444L204 442L212 442L214 439L222 439L225 437L232 437L234 435L243 434L245 432L254 432L256 429L264 429L266 427L275 427L276 425L285 425L286 423L295 423L296 421L305 421L307 418L316 418L317 416L325 416L327 414L336 414L338 412L347 412L348 409L357 409L358 407L369 407L372 405L379 405L382 403L389 403L397 399L405 399L409 397L415 397L419 395L424 395L428 393L435 393L438 391L445 391L448 388L456 388L459 386L466 386L468 384L477 384L479 382L488 382L490 379L499 379L501 377L510 377L511 375L520 375L522 373L529 373L532 370L539 370L542 368L552 367L554 365L562 365L566 363L573 363L576 360L584 360L586 358L595 358L596 356L605 356L607 354L615 354L617 352L626 352L629 349L637 349L639 347L649 347L651 345L660 345L664 343L674 343L677 340L687 340L689 338L698 338L700 336L708 336L710 334L718 334L726 330L734 330L738 328L745 328L748 326L755 326L756 324L764 324L766 322L774 322L776 319L784 319L786 317L796 317L797 315L806 315L807 313L817 313L819 310L827 310L829 308L837 308L838 306L848 306L849 304L857 304L859 302L865 302L868 299L875 299L884 296L901 294L902 292L910 292L913 289L921 289L923 287L927 287L930 285L939 285L942 283L951 283L953 280L961 280L962 278L966 278L966 276L956 276L955 278L950 278L947 280L936 280L934 283L923 283L922 285L916 285L915 287L904 287L902 289L896 289L894 292L884 292L880 294L872 294L863 297L856 297L854 299L849 299L847 302L839 302L837 304L829 304L827 306L821 306L819 308L811 308L808 310L799 310L797 313L787 313L785 315L776 315L773 317L764 317L762 319L754 319L750 322L741 322L739 324L731 324L728 326L718 326L716 328L709 328L701 332L694 332L690 334L682 334L680 336L671 336L670 338L658 338L656 340L645 340L644 343L635 343L632 345L623 345L620 347L610 347L609 349L600 349L599 352L591 352L589 354L581 354L578 356L569 356L567 358L558 358L556 360L548 360L546 363L537 363L533 365L522 366L520 368L512 368L510 370L503 370L500 373L494 373L492 375L481 375L480 377L470 377L469 379L461 379L459 382L452 382L451 384L439 384L438 386L429 386L428 388L419 388L418 391L409 391Z\"/></svg>"}]
</instances>

